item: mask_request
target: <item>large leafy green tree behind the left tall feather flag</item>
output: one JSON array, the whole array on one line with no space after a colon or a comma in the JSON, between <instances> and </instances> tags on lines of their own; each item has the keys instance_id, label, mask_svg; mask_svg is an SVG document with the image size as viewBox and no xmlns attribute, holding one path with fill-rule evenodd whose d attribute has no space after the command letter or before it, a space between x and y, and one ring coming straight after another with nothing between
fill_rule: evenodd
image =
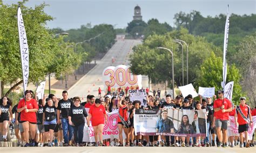
<instances>
[{"instance_id":1,"label":"large leafy green tree behind the left tall feather flag","mask_svg":"<svg viewBox=\"0 0 256 153\"><path fill-rule=\"evenodd\" d=\"M73 63L79 62L77 54L66 52L67 44L63 37L53 38L54 35L46 28L46 22L53 18L43 11L45 4L37 5L34 9L27 8L24 3L18 4L21 6L29 45L29 82L42 81L48 73L68 71ZM0 7L0 66L4 65L0 71L2 92L4 85L12 85L5 95L23 82L17 30L18 4L3 4Z\"/></svg>"}]
</instances>

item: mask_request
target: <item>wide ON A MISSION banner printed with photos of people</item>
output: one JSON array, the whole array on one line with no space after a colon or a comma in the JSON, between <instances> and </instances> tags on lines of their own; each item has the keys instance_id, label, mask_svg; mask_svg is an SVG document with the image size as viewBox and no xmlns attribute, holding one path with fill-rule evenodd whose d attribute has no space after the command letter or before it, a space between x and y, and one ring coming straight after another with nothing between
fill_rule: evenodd
<instances>
[{"instance_id":1,"label":"wide ON A MISSION banner printed with photos of people","mask_svg":"<svg viewBox=\"0 0 256 153\"><path fill-rule=\"evenodd\" d=\"M205 109L140 109L134 115L134 130L140 135L205 136Z\"/></svg>"}]
</instances>

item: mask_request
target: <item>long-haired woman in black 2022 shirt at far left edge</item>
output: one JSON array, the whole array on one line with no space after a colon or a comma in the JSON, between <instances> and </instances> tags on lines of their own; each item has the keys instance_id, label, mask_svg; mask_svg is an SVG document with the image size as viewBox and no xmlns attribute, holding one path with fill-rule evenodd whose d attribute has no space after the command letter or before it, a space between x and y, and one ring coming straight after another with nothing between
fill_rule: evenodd
<instances>
[{"instance_id":1,"label":"long-haired woman in black 2022 shirt at far left edge","mask_svg":"<svg viewBox=\"0 0 256 153\"><path fill-rule=\"evenodd\" d=\"M8 102L8 98L4 96L0 105L0 132L3 135L3 141L7 141L7 128L9 128L9 124L12 120L11 109L12 107Z\"/></svg>"}]
</instances>

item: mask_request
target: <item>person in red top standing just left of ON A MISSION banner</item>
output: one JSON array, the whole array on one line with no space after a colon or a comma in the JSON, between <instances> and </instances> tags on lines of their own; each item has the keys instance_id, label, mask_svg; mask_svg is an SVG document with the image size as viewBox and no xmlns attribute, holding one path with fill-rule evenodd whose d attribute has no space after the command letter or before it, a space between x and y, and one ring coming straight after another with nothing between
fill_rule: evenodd
<instances>
[{"instance_id":1,"label":"person in red top standing just left of ON A MISSION banner","mask_svg":"<svg viewBox=\"0 0 256 153\"><path fill-rule=\"evenodd\" d=\"M129 126L127 126L128 124L128 116L129 114L127 113L128 111L128 107L127 107L127 103L128 101L126 100L118 100L118 107L119 107L119 117L117 118L117 127L118 127L118 131L119 131L119 141L120 144L118 145L119 147L123 147L123 129L124 129L124 133L126 136L126 147L130 147L130 136L129 136L129 132L128 132L128 128ZM121 119L122 117L122 119ZM123 120L123 121L122 121ZM125 123L126 122L126 125Z\"/></svg>"}]
</instances>

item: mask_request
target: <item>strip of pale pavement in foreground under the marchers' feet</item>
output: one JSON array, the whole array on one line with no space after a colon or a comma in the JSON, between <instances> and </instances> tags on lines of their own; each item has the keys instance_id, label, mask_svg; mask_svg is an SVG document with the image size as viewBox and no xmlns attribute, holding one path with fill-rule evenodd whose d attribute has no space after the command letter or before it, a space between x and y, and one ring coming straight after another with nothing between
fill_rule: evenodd
<instances>
[{"instance_id":1,"label":"strip of pale pavement in foreground under the marchers' feet","mask_svg":"<svg viewBox=\"0 0 256 153\"><path fill-rule=\"evenodd\" d=\"M97 152L110 152L110 153L130 153L130 152L160 152L160 153L170 153L170 152L179 152L179 153L187 153L187 152L203 152L203 153L216 153L216 152L245 152L245 153L255 153L256 147L251 148L217 148L217 147L191 147L191 148L176 148L176 147L30 147L30 148L21 148L21 147L4 147L0 148L1 153L12 153L12 152L35 152L35 153L51 153L51 152L81 152L81 153L97 153Z\"/></svg>"}]
</instances>

